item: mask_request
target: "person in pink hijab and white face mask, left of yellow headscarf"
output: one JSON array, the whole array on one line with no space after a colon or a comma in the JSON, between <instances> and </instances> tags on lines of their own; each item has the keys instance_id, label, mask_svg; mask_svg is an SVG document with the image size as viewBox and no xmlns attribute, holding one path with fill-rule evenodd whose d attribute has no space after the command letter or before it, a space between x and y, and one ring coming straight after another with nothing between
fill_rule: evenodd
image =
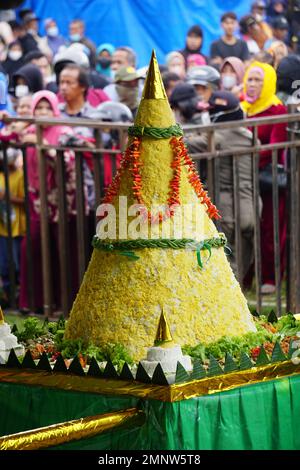
<instances>
[{"instance_id":1,"label":"person in pink hijab and white face mask, left of yellow headscarf","mask_svg":"<svg viewBox=\"0 0 300 470\"><path fill-rule=\"evenodd\" d=\"M221 65L221 89L230 91L240 101L243 101L243 78L245 65L237 57L227 57Z\"/></svg>"}]
</instances>

